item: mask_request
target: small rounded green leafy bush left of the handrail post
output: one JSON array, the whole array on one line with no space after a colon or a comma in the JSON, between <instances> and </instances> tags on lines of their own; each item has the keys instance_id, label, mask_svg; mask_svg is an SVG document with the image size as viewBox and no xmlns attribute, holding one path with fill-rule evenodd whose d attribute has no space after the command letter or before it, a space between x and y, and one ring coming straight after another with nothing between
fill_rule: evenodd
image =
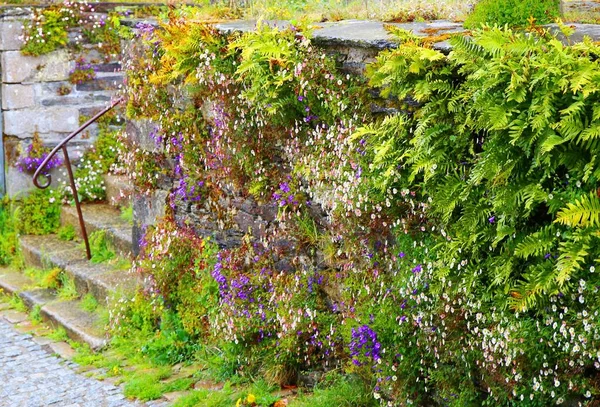
<instances>
[{"instance_id":1,"label":"small rounded green leafy bush left of the handrail post","mask_svg":"<svg viewBox=\"0 0 600 407\"><path fill-rule=\"evenodd\" d=\"M60 199L55 191L35 190L16 203L18 230L26 235L45 235L60 225Z\"/></svg>"}]
</instances>

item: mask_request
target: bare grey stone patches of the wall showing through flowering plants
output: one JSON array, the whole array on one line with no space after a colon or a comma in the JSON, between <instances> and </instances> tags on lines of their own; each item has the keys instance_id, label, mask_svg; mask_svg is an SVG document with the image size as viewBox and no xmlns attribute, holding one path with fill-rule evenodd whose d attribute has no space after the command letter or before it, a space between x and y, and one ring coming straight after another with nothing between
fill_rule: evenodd
<instances>
[{"instance_id":1,"label":"bare grey stone patches of the wall showing through flowering plants","mask_svg":"<svg viewBox=\"0 0 600 407\"><path fill-rule=\"evenodd\" d=\"M271 21L269 24L285 26L286 22ZM400 28L414 32L417 35L440 35L456 33L463 30L458 23L448 21L434 21L429 23L393 24ZM253 30L255 22L236 21L217 24L217 28L223 32ZM581 41L584 35L594 40L600 39L600 26L577 24L573 41ZM322 23L313 32L313 42L321 47L326 53L337 60L340 69L353 75L362 75L368 63L374 61L379 52L397 46L384 28L384 24L374 21L349 20L338 23ZM435 48L444 52L450 52L448 42L439 42ZM377 97L373 91L374 114L389 114L393 111L386 106L386 101ZM176 101L182 106L186 101ZM127 133L136 147L150 153L156 153L158 147L152 139L156 125L148 121L131 121L127 124ZM156 222L165 214L168 205L170 191L178 183L176 179L162 179L159 188L151 193L134 194L134 252L139 251L138 242L143 236L145 229ZM235 247L239 245L241 238L248 231L254 238L260 239L269 229L276 227L275 218L277 207L273 204L260 205L251 197L245 197L236 191L229 191L227 196L222 197L220 205L231 209L230 219L218 219L215 211L207 203L180 203L176 205L176 218L181 223L191 225L197 233L203 236L212 236L221 247ZM319 208L311 208L313 218L318 222L325 221L324 214ZM281 242L285 246L293 245L293 242ZM278 268L287 269L286 259L282 257Z\"/></svg>"}]
</instances>

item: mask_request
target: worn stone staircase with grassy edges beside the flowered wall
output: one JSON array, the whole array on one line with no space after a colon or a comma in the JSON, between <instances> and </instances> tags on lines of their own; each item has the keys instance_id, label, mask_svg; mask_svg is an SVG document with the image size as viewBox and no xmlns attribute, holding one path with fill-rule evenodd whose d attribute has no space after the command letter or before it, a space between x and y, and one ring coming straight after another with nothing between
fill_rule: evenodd
<instances>
[{"instance_id":1,"label":"worn stone staircase with grassy edges beside the flowered wall","mask_svg":"<svg viewBox=\"0 0 600 407\"><path fill-rule=\"evenodd\" d=\"M128 199L121 196L122 188L114 185L118 182L121 181L106 180L108 201L128 204ZM118 196L115 197L115 194ZM107 241L115 248L117 255L131 258L132 227L121 219L118 206L107 203L84 204L82 210L88 235L104 230ZM61 224L72 225L79 232L79 220L74 207L63 206ZM80 242L63 241L57 235L21 236L20 244L26 266L59 268L75 282L79 298L61 300L55 290L36 288L33 280L10 269L0 269L0 288L6 293L19 295L30 310L39 309L45 322L54 328L62 327L69 338L86 343L93 350L103 348L108 342L104 322L97 313L83 309L81 298L91 294L99 304L107 305L126 292L134 291L141 284L139 277L111 263L93 264L86 259Z\"/></svg>"}]
</instances>

